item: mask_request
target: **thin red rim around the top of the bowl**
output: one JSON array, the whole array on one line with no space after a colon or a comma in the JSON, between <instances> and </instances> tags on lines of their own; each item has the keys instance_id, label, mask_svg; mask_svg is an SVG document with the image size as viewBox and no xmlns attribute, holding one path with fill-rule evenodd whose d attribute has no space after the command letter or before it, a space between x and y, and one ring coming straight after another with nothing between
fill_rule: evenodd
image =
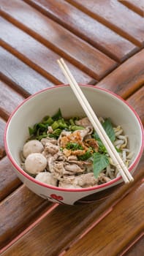
<instances>
[{"instance_id":1,"label":"thin red rim around the top of the bowl","mask_svg":"<svg viewBox=\"0 0 144 256\"><path fill-rule=\"evenodd\" d=\"M15 112L23 105L25 104L25 102L27 102L29 99L33 98L35 95L37 94L40 94L42 93L43 91L48 91L48 90L51 90L51 89L58 89L59 87L68 87L69 85L65 85L65 84L61 84L59 86L53 86L53 87L50 87L50 88L46 88L46 89L42 89L40 91L37 91L35 94L32 94L31 96L29 96L28 98L24 99L22 103L20 103L20 105L18 105L17 108L15 108L15 110L12 112L12 114L10 115L10 118L8 119L7 121L7 124L6 124L6 127L5 127L5 130L4 130L4 147L5 147L5 150L6 150L6 153L7 153L7 157L10 159L10 162L12 163L12 165L18 170L19 173L21 173L23 176L25 176L26 178L28 178L30 181L33 181L35 184L38 184L39 186L41 187L47 187L49 189L54 189L54 190L58 190L58 191L63 191L63 192L84 192L84 191L91 191L91 190L96 190L96 189L102 189L102 188L108 188L110 185L116 183L117 181L120 181L121 179L121 176L118 176L117 178L113 178L113 180L111 181L108 181L107 183L105 184L101 184L101 185L97 185L96 187L87 187L87 188L82 188L82 189L65 189L65 188L61 188L61 187L54 187L52 185L48 185L48 184L45 184L45 183L42 183L40 181L37 181L35 178L29 176L28 173L26 173L22 168L20 168L20 166L15 162L15 160L12 158L11 154L10 154L10 151L8 149L8 146L7 146L7 129L9 127L9 124L10 124L10 121L12 119L12 116L14 116ZM137 121L139 122L140 124L140 128L141 128L141 132L142 132L142 145L141 145L141 148L140 148L140 152L139 154L137 155L137 158L134 160L134 162L132 163L132 165L130 165L129 167L129 172L132 171L133 167L137 165L137 163L139 162L140 160L140 157L141 155L143 154L143 148L144 148L144 131L143 131L143 124L142 122L140 121L140 117L137 115L136 111L132 108L131 105L129 105L129 103L127 103L124 99L122 99L120 96L118 96L117 94L113 93L113 91L109 91L107 89L103 89L103 88L100 88L99 86L91 86L91 85L84 85L84 84L80 84L80 86L83 86L83 87L91 87L93 89L99 89L101 91L105 91L107 92L108 94L112 94L114 97L120 99L122 102L124 102L131 110L132 112L134 113L134 115L137 117Z\"/></svg>"}]
</instances>

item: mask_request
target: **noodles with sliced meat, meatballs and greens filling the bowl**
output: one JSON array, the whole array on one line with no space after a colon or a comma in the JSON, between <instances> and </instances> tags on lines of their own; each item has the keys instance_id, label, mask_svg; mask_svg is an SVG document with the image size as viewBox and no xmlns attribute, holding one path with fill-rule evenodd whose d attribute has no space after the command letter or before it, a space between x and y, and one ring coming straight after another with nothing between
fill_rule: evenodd
<instances>
[{"instance_id":1,"label":"noodles with sliced meat, meatballs and greens filling the bowl","mask_svg":"<svg viewBox=\"0 0 144 256\"><path fill-rule=\"evenodd\" d=\"M126 167L132 159L128 138L110 118L99 118ZM119 176L99 136L87 117L64 118L61 110L29 127L21 151L21 166L29 175L56 187L94 187Z\"/></svg>"}]
</instances>

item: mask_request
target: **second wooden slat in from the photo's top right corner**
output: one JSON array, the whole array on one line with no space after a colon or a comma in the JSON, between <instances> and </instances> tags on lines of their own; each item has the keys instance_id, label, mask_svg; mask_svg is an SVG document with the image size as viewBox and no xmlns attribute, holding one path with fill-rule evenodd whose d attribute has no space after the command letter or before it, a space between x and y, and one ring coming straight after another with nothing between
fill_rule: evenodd
<instances>
[{"instance_id":1,"label":"second wooden slat in from the photo's top right corner","mask_svg":"<svg viewBox=\"0 0 144 256\"><path fill-rule=\"evenodd\" d=\"M115 0L67 0L137 45L144 45L144 19Z\"/></svg>"}]
</instances>

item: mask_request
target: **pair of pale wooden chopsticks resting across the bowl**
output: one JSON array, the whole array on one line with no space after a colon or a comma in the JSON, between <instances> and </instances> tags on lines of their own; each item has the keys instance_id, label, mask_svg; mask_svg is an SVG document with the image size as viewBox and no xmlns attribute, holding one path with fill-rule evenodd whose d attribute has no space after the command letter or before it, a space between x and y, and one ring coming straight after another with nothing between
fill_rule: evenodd
<instances>
[{"instance_id":1,"label":"pair of pale wooden chopsticks resting across the bowl","mask_svg":"<svg viewBox=\"0 0 144 256\"><path fill-rule=\"evenodd\" d=\"M124 162L122 161L118 152L115 150L113 143L111 142L110 138L107 136L105 129L103 129L102 124L99 122L99 119L94 113L94 110L92 110L91 105L89 105L88 100L86 99L83 92L81 91L80 86L78 86L69 68L64 63L64 60L63 59L58 60L58 64L59 64L59 67L61 67L62 72L64 72L64 75L67 78L69 85L72 88L72 91L75 93L75 96L80 102L80 105L85 111L86 116L88 116L89 120L91 121L91 124L93 125L95 131L99 135L99 138L102 140L102 143L105 145L105 148L107 148L107 152L110 155L110 157L113 159L113 162L115 163L115 167L117 167L119 173L124 179L124 182L129 183L129 181L133 181L134 178L132 177L131 173L129 173L129 170L126 168L126 165L124 165Z\"/></svg>"}]
</instances>

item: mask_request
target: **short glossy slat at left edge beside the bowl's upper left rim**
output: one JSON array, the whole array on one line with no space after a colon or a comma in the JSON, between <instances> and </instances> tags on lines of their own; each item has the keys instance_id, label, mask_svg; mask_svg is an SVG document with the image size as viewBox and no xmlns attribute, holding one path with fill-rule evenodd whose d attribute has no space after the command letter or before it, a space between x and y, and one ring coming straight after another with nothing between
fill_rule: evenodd
<instances>
[{"instance_id":1,"label":"short glossy slat at left edge beside the bowl's upper left rim","mask_svg":"<svg viewBox=\"0 0 144 256\"><path fill-rule=\"evenodd\" d=\"M12 111L23 101L23 96L14 91L10 86L0 80L0 113L3 111L10 116ZM4 116L4 114L2 114ZM2 116L2 117L3 117Z\"/></svg>"}]
</instances>

